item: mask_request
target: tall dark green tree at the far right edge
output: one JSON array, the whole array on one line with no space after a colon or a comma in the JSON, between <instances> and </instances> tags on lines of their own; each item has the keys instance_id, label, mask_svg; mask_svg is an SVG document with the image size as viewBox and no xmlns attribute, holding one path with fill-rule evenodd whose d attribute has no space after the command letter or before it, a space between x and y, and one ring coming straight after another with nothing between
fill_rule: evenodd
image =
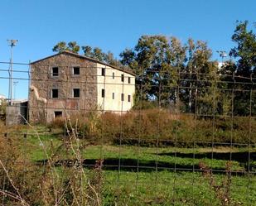
<instances>
[{"instance_id":1,"label":"tall dark green tree at the far right edge","mask_svg":"<svg viewBox=\"0 0 256 206\"><path fill-rule=\"evenodd\" d=\"M234 115L249 115L250 103L256 104L254 97L251 97L250 89L253 89L252 77L256 74L256 34L249 30L249 22L237 22L234 34L231 37L236 44L230 50L230 57L234 57L235 63L225 66L225 72L233 72L234 82L230 89L234 92ZM230 78L229 78L230 79ZM239 90L241 92L239 92ZM254 111L253 111L254 112Z\"/></svg>"}]
</instances>

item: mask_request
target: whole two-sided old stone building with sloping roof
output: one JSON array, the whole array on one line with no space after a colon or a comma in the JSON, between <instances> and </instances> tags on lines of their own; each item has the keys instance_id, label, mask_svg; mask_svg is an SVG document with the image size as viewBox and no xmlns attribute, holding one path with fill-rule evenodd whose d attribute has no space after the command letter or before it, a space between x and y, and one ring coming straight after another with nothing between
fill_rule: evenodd
<instances>
[{"instance_id":1,"label":"whole two-sided old stone building with sloping roof","mask_svg":"<svg viewBox=\"0 0 256 206\"><path fill-rule=\"evenodd\" d=\"M51 122L91 110L122 113L133 107L131 70L63 51L31 63L30 122Z\"/></svg>"}]
</instances>

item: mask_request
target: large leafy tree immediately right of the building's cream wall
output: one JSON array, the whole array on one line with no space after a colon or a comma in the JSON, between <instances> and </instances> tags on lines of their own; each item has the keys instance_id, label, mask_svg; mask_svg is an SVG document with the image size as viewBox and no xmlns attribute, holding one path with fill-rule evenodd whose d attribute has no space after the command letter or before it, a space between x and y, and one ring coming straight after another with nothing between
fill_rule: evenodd
<instances>
[{"instance_id":1,"label":"large leafy tree immediately right of the building's cream wall","mask_svg":"<svg viewBox=\"0 0 256 206\"><path fill-rule=\"evenodd\" d=\"M157 100L160 105L176 103L177 74L185 59L185 48L175 37L141 36L134 49L120 54L121 63L137 74L142 99Z\"/></svg>"}]
</instances>

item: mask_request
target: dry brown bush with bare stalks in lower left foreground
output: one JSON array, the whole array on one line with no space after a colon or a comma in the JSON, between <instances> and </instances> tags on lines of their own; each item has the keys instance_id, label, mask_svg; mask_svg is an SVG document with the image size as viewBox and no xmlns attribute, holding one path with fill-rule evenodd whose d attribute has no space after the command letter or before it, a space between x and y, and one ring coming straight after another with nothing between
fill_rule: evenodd
<instances>
[{"instance_id":1,"label":"dry brown bush with bare stalks in lower left foreground","mask_svg":"<svg viewBox=\"0 0 256 206\"><path fill-rule=\"evenodd\" d=\"M59 121L59 120L56 120ZM1 127L0 127L1 128ZM4 128L3 128L4 129ZM22 130L9 131L5 137L0 133L0 196L2 205L98 205L103 184L102 160L98 160L94 170L83 168L84 159L80 158L80 148L70 152L74 165L63 161L57 167L61 150L67 153L70 142L62 146L51 144L45 151L47 160L32 162L24 152L24 142L19 138ZM38 136L38 138L40 138ZM25 143L26 144L26 143ZM63 151L62 151L63 152ZM89 184L90 183L90 184ZM88 198L89 197L89 198Z\"/></svg>"}]
</instances>

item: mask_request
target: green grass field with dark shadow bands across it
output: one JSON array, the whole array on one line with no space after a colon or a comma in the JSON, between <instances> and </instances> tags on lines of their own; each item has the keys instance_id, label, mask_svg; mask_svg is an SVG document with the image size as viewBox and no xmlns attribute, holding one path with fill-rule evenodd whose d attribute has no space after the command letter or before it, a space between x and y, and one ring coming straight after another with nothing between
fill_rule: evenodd
<instances>
[{"instance_id":1,"label":"green grass field with dark shadow bands across it","mask_svg":"<svg viewBox=\"0 0 256 206\"><path fill-rule=\"evenodd\" d=\"M24 132L28 133L26 137ZM56 162L75 160L73 152L66 150L60 131L46 132L45 127L36 127L36 132L41 142L31 129L23 128L18 135L10 132L10 137L19 139L20 150L31 162L44 167L47 158L43 147L51 155L56 152ZM122 141L121 145L90 144L86 140L76 143L75 150L80 149L86 171L96 160L104 160L103 205L256 205L254 147L146 147L122 145ZM228 162L231 176L226 171ZM201 164L206 165L205 172L210 175L205 175ZM226 204L225 195L230 197Z\"/></svg>"}]
</instances>

